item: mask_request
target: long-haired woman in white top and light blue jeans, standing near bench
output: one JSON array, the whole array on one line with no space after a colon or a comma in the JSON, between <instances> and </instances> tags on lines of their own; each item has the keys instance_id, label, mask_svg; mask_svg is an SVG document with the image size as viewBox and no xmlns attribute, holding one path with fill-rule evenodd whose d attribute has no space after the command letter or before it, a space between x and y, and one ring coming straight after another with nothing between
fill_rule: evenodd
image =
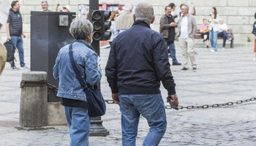
<instances>
[{"instance_id":1,"label":"long-haired woman in white top and light blue jeans, standing near bench","mask_svg":"<svg viewBox=\"0 0 256 146\"><path fill-rule=\"evenodd\" d=\"M211 52L216 52L218 50L218 32L219 32L219 15L217 15L216 7L211 8L211 15L210 15L210 26L209 26L209 39L211 42Z\"/></svg>"}]
</instances>

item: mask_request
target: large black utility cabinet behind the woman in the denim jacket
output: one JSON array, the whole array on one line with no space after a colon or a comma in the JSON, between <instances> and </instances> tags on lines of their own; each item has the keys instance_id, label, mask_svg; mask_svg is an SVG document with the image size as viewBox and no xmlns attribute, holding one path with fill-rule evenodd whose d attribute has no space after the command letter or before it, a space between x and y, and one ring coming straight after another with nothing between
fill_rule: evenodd
<instances>
[{"instance_id":1,"label":"large black utility cabinet behind the woman in the denim jacket","mask_svg":"<svg viewBox=\"0 0 256 146\"><path fill-rule=\"evenodd\" d=\"M75 12L31 11L31 71L45 71L48 83L59 86L53 78L53 66L61 47L75 40L69 27ZM56 92L48 89L48 102L59 101Z\"/></svg>"}]
</instances>

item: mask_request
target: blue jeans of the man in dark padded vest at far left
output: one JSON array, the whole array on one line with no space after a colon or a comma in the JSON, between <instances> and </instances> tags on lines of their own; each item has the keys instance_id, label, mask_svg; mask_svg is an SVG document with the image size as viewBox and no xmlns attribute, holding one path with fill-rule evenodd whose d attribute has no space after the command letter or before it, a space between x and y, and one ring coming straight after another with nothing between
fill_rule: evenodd
<instances>
[{"instance_id":1,"label":"blue jeans of the man in dark padded vest at far left","mask_svg":"<svg viewBox=\"0 0 256 146\"><path fill-rule=\"evenodd\" d=\"M18 49L19 52L19 58L20 58L20 66L23 67L25 66L24 63L24 49L23 49L23 39L21 36L11 36L11 41L14 45L15 48ZM15 66L14 61L12 61L11 66Z\"/></svg>"}]
</instances>

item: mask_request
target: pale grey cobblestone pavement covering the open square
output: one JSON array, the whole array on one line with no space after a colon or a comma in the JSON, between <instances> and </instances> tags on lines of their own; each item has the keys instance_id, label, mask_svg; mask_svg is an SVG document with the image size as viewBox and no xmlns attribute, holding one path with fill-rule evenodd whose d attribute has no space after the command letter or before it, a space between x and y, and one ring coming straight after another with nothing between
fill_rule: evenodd
<instances>
[{"instance_id":1,"label":"pale grey cobblestone pavement covering the open square","mask_svg":"<svg viewBox=\"0 0 256 146\"><path fill-rule=\"evenodd\" d=\"M219 49L195 48L198 55L197 72L181 66L171 66L176 91L182 106L222 104L256 96L256 62L252 48ZM102 93L111 99L105 78L109 49L101 49ZM26 63L29 49L25 50ZM181 49L176 45L178 61ZM18 56L17 56L18 57ZM45 131L19 131L20 80L24 70L12 71L7 64L0 79L0 145L69 145L67 126ZM167 92L161 87L162 96ZM164 98L165 99L165 98ZM256 145L256 101L195 110L166 110L167 131L159 145ZM116 104L107 104L103 126L110 131L107 137L90 137L89 145L121 145L121 113ZM143 144L148 132L145 118L140 118L137 145Z\"/></svg>"}]
</instances>

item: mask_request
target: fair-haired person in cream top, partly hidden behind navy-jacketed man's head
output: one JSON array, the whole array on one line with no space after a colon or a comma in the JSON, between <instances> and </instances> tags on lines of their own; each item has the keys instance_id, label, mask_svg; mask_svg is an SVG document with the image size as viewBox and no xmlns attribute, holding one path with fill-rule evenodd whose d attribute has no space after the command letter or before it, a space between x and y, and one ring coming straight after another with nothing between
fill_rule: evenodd
<instances>
[{"instance_id":1,"label":"fair-haired person in cream top, partly hidden behind navy-jacketed man's head","mask_svg":"<svg viewBox=\"0 0 256 146\"><path fill-rule=\"evenodd\" d=\"M129 29L134 23L132 9L133 4L128 3L124 5L123 12L119 12L119 16L116 18L116 36Z\"/></svg>"}]
</instances>

